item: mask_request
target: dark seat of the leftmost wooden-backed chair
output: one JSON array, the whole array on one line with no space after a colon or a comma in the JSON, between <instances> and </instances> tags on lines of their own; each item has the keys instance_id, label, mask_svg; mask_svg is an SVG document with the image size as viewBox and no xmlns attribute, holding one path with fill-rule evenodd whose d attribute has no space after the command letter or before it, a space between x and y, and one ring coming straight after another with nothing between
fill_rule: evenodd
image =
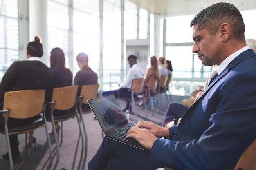
<instances>
[{"instance_id":1,"label":"dark seat of the leftmost wooden-backed chair","mask_svg":"<svg viewBox=\"0 0 256 170\"><path fill-rule=\"evenodd\" d=\"M25 126L19 126L19 127L8 127L8 132L9 134L20 134L20 133L25 133L25 132L31 132L34 131L38 128L41 128L45 126L45 123L43 121L39 121L33 124L25 125ZM0 128L0 133L5 134L4 132L4 127Z\"/></svg>"}]
</instances>

